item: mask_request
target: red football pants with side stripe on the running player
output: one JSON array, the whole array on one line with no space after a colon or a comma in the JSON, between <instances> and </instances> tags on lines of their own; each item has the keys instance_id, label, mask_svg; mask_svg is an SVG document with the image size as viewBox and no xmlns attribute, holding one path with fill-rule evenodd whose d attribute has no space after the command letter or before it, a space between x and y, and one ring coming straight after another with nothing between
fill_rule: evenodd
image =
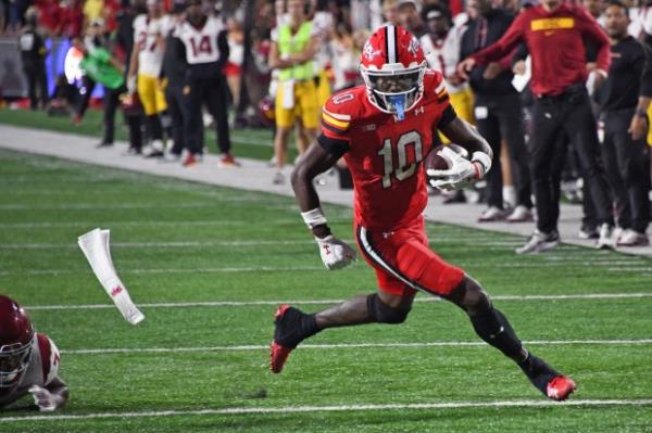
<instances>
[{"instance_id":1,"label":"red football pants with side stripe on the running player","mask_svg":"<svg viewBox=\"0 0 652 433\"><path fill-rule=\"evenodd\" d=\"M363 257L376 270L378 286L386 293L411 295L418 290L442 296L464 278L462 269L429 249L423 216L391 232L358 226L355 235Z\"/></svg>"}]
</instances>

